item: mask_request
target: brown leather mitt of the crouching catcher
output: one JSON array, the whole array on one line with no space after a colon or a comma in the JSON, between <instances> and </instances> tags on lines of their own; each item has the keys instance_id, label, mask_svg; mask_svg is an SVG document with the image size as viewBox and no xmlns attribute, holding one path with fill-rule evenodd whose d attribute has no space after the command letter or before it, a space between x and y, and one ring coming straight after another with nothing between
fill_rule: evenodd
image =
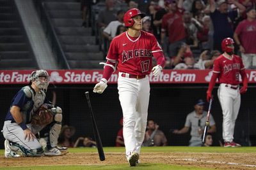
<instances>
[{"instance_id":1,"label":"brown leather mitt of the crouching catcher","mask_svg":"<svg viewBox=\"0 0 256 170\"><path fill-rule=\"evenodd\" d=\"M40 107L31 119L31 124L36 126L48 125L52 122L54 114L51 109Z\"/></svg>"}]
</instances>

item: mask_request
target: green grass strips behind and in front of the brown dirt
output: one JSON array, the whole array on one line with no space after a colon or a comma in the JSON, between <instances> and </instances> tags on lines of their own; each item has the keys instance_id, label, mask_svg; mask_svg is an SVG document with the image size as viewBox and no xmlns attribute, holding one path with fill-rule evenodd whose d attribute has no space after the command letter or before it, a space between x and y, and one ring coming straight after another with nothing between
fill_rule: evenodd
<instances>
[{"instance_id":1,"label":"green grass strips behind and in front of the brown dirt","mask_svg":"<svg viewBox=\"0 0 256 170\"><path fill-rule=\"evenodd\" d=\"M69 148L68 151L70 153L95 153L97 152L97 148ZM125 153L124 147L104 147L104 152L121 152ZM256 153L256 147L241 147L241 148L223 148L220 146L217 147L188 147L188 146L164 146L164 147L143 147L141 148L142 153L154 153L154 152L166 152L166 153L189 153L189 152L208 152L208 153ZM0 155L3 157L4 150L0 150ZM53 157L54 158L54 157ZM8 170L8 169L31 169L31 170L49 170L49 169L172 169L172 170L206 170L209 168L199 168L199 167L191 167L191 166L172 166L170 164L140 164L137 167L129 167L127 164L120 164L117 165L93 165L93 166L29 166L22 165L20 162L20 167L0 167L0 169ZM209 169L213 170L213 169Z\"/></svg>"}]
</instances>

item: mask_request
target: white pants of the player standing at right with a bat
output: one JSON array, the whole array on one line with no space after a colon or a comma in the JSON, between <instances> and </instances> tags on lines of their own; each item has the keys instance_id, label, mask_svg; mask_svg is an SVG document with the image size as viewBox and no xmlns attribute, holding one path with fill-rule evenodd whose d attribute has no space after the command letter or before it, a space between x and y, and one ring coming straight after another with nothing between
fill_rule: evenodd
<instances>
[{"instance_id":1,"label":"white pants of the player standing at right with a bat","mask_svg":"<svg viewBox=\"0 0 256 170\"><path fill-rule=\"evenodd\" d=\"M222 136L224 141L231 142L234 139L234 129L240 108L241 96L239 88L231 89L225 86L225 83L221 83L218 89L218 98L223 114Z\"/></svg>"}]
</instances>

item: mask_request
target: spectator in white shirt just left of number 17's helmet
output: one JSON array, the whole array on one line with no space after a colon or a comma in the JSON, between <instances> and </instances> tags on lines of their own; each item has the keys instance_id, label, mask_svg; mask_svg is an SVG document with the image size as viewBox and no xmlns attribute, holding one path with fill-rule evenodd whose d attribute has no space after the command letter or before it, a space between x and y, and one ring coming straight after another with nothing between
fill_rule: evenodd
<instances>
[{"instance_id":1,"label":"spectator in white shirt just left of number 17's helmet","mask_svg":"<svg viewBox=\"0 0 256 170\"><path fill-rule=\"evenodd\" d=\"M112 41L112 39L116 36L116 30L118 25L124 25L124 11L119 10L116 13L117 20L111 21L108 26L103 30L103 36L108 39L108 41Z\"/></svg>"}]
</instances>

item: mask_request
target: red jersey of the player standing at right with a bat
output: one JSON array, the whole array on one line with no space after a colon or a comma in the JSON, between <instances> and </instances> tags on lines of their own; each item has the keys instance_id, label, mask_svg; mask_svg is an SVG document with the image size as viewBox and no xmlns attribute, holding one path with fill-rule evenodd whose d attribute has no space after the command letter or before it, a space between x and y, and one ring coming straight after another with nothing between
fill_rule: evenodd
<instances>
[{"instance_id":1,"label":"red jersey of the player standing at right with a bat","mask_svg":"<svg viewBox=\"0 0 256 170\"><path fill-rule=\"evenodd\" d=\"M219 74L219 83L238 85L239 74L243 69L243 61L237 55L232 55L232 59L228 59L222 54L214 60L213 72Z\"/></svg>"}]
</instances>

